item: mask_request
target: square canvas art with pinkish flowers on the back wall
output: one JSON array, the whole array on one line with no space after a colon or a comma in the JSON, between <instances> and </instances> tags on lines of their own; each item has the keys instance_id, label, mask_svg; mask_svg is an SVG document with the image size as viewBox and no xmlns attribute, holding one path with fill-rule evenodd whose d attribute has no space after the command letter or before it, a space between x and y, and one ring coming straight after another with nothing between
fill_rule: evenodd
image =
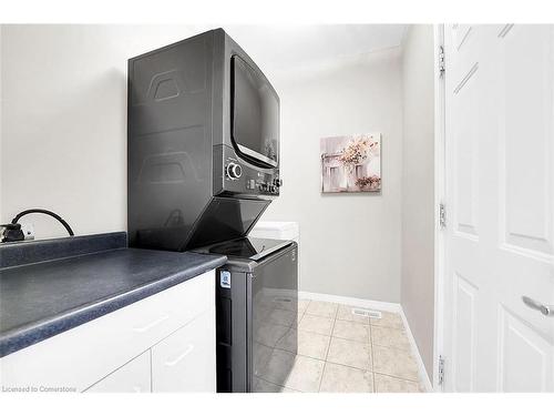
<instances>
[{"instance_id":1,"label":"square canvas art with pinkish flowers on the back wall","mask_svg":"<svg viewBox=\"0 0 554 416\"><path fill-rule=\"evenodd\" d=\"M322 138L321 192L381 191L381 134Z\"/></svg>"}]
</instances>

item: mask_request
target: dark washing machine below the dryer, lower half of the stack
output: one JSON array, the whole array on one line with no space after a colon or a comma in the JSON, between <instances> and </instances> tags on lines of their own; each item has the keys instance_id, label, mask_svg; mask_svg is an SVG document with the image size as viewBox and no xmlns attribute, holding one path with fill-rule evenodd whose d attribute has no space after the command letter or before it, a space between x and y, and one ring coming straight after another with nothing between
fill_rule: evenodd
<instances>
[{"instance_id":1,"label":"dark washing machine below the dryer, lower half of the stack","mask_svg":"<svg viewBox=\"0 0 554 416\"><path fill-rule=\"evenodd\" d=\"M217 392L283 385L298 348L297 244L243 237L196 252L228 257L216 272Z\"/></svg>"}]
</instances>

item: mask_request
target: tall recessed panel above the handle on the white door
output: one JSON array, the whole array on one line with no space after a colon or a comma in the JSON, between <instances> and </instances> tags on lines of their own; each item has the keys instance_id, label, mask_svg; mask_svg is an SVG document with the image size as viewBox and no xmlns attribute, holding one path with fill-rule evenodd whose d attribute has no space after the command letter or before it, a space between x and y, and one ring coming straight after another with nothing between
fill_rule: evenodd
<instances>
[{"instance_id":1,"label":"tall recessed panel above the handle on the white door","mask_svg":"<svg viewBox=\"0 0 554 416\"><path fill-rule=\"evenodd\" d=\"M552 42L537 42L548 30L513 27L500 38L501 225L507 244L540 255L553 254L554 65Z\"/></svg>"}]
</instances>

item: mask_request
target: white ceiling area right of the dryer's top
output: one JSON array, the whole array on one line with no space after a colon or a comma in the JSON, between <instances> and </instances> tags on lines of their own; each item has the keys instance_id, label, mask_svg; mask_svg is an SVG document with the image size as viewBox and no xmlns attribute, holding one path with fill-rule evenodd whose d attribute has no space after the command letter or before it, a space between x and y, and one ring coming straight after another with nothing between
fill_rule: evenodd
<instances>
[{"instance_id":1,"label":"white ceiling area right of the dryer's top","mask_svg":"<svg viewBox=\"0 0 554 416\"><path fill-rule=\"evenodd\" d=\"M265 71L287 71L400 45L406 24L224 26Z\"/></svg>"}]
</instances>

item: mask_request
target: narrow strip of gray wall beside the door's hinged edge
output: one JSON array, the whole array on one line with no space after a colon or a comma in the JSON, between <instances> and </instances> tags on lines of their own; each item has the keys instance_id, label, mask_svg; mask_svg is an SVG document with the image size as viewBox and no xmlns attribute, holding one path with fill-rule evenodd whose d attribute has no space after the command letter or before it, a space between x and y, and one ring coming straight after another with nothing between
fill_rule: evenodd
<instances>
[{"instance_id":1,"label":"narrow strip of gray wall beside the door's hinged edge","mask_svg":"<svg viewBox=\"0 0 554 416\"><path fill-rule=\"evenodd\" d=\"M433 28L410 27L403 42L401 304L433 374L434 87Z\"/></svg>"}]
</instances>

